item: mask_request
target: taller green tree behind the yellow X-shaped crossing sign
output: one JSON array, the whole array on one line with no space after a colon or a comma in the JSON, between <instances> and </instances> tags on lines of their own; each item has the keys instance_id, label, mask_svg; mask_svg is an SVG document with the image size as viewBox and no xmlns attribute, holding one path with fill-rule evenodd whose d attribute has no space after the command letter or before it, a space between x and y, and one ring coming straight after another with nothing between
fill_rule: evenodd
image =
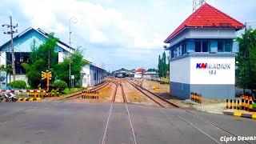
<instances>
[{"instance_id":1,"label":"taller green tree behind the yellow X-shaped crossing sign","mask_svg":"<svg viewBox=\"0 0 256 144\"><path fill-rule=\"evenodd\" d=\"M50 71L52 73L52 79L55 77L54 67L58 63L57 62L57 53L55 48L57 46L58 38L54 38L54 34L51 33L49 37L46 39L42 45L38 48L36 47L36 42L33 41L30 45L31 54L30 59L32 61L31 64L22 63L22 66L26 70L26 77L28 78L28 84L32 88L37 88L39 84L41 84L42 74L41 71L48 70L48 62L50 61Z\"/></svg>"}]
</instances>

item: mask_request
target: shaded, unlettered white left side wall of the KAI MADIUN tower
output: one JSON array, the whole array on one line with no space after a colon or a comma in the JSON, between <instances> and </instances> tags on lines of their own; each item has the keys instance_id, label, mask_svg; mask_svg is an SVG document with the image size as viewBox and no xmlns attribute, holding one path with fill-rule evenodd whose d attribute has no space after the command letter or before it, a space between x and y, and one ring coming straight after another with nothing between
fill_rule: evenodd
<instances>
[{"instance_id":1,"label":"shaded, unlettered white left side wall of the KAI MADIUN tower","mask_svg":"<svg viewBox=\"0 0 256 144\"><path fill-rule=\"evenodd\" d=\"M170 82L190 83L190 58L170 62Z\"/></svg>"}]
</instances>

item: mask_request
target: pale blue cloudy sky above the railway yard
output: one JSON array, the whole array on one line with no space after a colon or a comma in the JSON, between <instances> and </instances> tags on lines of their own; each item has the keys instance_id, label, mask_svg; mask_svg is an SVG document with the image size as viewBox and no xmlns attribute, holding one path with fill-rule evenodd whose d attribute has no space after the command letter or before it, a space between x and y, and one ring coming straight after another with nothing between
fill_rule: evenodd
<instances>
[{"instance_id":1,"label":"pale blue cloudy sky above the railway yard","mask_svg":"<svg viewBox=\"0 0 256 144\"><path fill-rule=\"evenodd\" d=\"M86 59L106 70L157 68L163 41L190 14L192 0L2 0L0 22L13 17L18 33L32 26L54 32L62 42L82 46ZM206 0L240 22L255 22L254 0ZM0 44L10 39L2 34ZM168 54L168 53L167 53Z\"/></svg>"}]
</instances>

